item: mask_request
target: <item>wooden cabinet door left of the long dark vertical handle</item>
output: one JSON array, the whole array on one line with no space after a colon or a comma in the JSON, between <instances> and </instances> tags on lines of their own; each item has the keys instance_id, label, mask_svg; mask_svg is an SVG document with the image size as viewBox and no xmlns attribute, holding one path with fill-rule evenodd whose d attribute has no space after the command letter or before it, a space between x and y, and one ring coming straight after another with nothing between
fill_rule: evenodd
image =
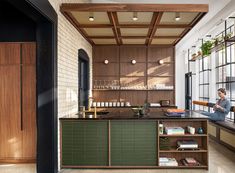
<instances>
[{"instance_id":1,"label":"wooden cabinet door left of the long dark vertical handle","mask_svg":"<svg viewBox=\"0 0 235 173\"><path fill-rule=\"evenodd\" d=\"M0 160L22 157L20 44L0 43Z\"/></svg>"}]
</instances>

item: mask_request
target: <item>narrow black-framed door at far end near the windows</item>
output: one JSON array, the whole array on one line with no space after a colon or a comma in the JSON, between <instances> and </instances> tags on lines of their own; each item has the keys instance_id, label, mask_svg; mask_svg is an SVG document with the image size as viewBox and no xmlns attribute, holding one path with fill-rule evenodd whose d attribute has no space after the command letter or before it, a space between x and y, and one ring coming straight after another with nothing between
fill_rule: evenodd
<instances>
[{"instance_id":1,"label":"narrow black-framed door at far end near the windows","mask_svg":"<svg viewBox=\"0 0 235 173\"><path fill-rule=\"evenodd\" d=\"M192 109L192 72L185 74L185 109Z\"/></svg>"}]
</instances>

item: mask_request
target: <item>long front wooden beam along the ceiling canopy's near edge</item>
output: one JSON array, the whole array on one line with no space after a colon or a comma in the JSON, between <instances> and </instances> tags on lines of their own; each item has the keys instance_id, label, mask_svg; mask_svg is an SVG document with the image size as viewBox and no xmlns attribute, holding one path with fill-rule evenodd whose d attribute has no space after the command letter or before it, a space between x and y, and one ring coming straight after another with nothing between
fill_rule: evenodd
<instances>
[{"instance_id":1,"label":"long front wooden beam along the ceiling canopy's near edge","mask_svg":"<svg viewBox=\"0 0 235 173\"><path fill-rule=\"evenodd\" d=\"M208 12L208 4L63 3L62 11Z\"/></svg>"}]
</instances>

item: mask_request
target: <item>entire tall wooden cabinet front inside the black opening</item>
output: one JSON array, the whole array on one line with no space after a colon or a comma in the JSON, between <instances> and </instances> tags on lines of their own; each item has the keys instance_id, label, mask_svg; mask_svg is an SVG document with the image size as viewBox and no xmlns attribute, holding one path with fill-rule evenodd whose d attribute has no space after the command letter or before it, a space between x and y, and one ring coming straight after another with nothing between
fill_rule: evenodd
<instances>
[{"instance_id":1,"label":"entire tall wooden cabinet front inside the black opening","mask_svg":"<svg viewBox=\"0 0 235 173\"><path fill-rule=\"evenodd\" d=\"M0 161L35 161L35 60L35 43L0 43Z\"/></svg>"}]
</instances>

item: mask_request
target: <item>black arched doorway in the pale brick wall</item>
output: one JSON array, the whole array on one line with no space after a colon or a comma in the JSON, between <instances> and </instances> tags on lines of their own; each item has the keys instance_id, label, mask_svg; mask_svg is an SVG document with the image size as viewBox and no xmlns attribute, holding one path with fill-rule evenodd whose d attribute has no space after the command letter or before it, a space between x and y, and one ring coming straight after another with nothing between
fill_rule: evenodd
<instances>
[{"instance_id":1,"label":"black arched doorway in the pale brick wall","mask_svg":"<svg viewBox=\"0 0 235 173\"><path fill-rule=\"evenodd\" d=\"M89 57L83 49L79 49L79 105L88 108L89 97Z\"/></svg>"}]
</instances>

